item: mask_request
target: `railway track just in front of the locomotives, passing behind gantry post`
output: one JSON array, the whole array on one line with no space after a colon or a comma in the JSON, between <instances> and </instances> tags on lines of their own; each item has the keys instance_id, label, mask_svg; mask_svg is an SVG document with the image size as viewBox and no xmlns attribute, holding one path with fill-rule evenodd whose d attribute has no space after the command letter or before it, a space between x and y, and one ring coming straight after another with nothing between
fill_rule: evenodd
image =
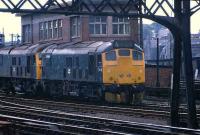
<instances>
[{"instance_id":1,"label":"railway track just in front of the locomotives, passing behind gantry post","mask_svg":"<svg viewBox=\"0 0 200 135\"><path fill-rule=\"evenodd\" d=\"M123 116L140 116L140 117L151 117L157 119L169 120L170 112L169 106L166 103L159 105L148 104L146 106L134 106L130 107L110 107L110 106L99 106L99 105L88 105L88 104L77 104L77 103L65 103L65 102L53 102L45 100L33 100L16 97L4 97L0 96L0 103L11 106L34 106L51 110L60 110L68 113L76 114L94 114L94 113L106 113L106 114L118 114ZM180 116L183 120L187 119L186 110L184 107L180 109L182 112ZM198 114L200 120L200 115Z\"/></svg>"}]
</instances>

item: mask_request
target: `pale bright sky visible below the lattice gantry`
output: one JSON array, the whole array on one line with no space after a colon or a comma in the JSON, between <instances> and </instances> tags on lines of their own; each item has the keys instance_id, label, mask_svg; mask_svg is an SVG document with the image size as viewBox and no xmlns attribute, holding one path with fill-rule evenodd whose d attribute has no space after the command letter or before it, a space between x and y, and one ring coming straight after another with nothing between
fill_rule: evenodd
<instances>
[{"instance_id":1,"label":"pale bright sky visible below the lattice gantry","mask_svg":"<svg viewBox=\"0 0 200 135\"><path fill-rule=\"evenodd\" d=\"M21 18L16 17L14 14L10 13L0 13L0 32L3 31L6 35L6 40L10 40L10 34L20 34L21 35ZM149 20L144 20L144 23L151 23ZM191 19L191 31L192 33L198 33L200 30L200 12L192 16Z\"/></svg>"}]
</instances>

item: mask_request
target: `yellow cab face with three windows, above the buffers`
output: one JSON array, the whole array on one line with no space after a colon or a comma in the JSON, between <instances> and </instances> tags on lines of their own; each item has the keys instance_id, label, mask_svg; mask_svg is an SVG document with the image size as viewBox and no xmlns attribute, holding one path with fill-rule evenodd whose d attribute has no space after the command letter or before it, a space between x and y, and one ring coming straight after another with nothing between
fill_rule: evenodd
<instances>
[{"instance_id":1,"label":"yellow cab face with three windows, above the buffers","mask_svg":"<svg viewBox=\"0 0 200 135\"><path fill-rule=\"evenodd\" d=\"M103 53L103 83L144 84L145 63L143 57L143 52L133 49L115 49Z\"/></svg>"}]
</instances>

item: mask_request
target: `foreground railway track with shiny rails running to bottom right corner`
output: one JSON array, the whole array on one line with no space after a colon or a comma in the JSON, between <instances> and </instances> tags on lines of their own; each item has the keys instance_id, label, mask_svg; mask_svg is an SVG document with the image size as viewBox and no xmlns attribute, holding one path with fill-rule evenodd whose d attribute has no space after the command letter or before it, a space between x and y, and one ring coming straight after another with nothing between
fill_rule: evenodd
<instances>
[{"instance_id":1,"label":"foreground railway track with shiny rails running to bottom right corner","mask_svg":"<svg viewBox=\"0 0 200 135\"><path fill-rule=\"evenodd\" d=\"M42 127L42 129L46 128L53 132L58 131L61 133L117 135L200 134L199 130L83 116L17 104L12 106L0 105L0 118L18 123L18 125L25 123L27 126L31 124L35 125L35 128L41 129Z\"/></svg>"}]
</instances>

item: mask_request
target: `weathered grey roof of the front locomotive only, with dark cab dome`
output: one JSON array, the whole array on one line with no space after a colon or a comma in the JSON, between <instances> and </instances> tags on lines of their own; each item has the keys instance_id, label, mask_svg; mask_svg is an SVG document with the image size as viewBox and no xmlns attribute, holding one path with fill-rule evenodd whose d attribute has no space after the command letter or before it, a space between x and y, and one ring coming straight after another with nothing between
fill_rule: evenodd
<instances>
[{"instance_id":1,"label":"weathered grey roof of the front locomotive only, with dark cab dome","mask_svg":"<svg viewBox=\"0 0 200 135\"><path fill-rule=\"evenodd\" d=\"M133 48L138 51L142 49L133 41L127 40L112 40L112 41L84 41L84 42L70 42L59 46L53 45L45 48L42 53L52 54L87 54L89 52L102 53L117 48Z\"/></svg>"}]
</instances>

